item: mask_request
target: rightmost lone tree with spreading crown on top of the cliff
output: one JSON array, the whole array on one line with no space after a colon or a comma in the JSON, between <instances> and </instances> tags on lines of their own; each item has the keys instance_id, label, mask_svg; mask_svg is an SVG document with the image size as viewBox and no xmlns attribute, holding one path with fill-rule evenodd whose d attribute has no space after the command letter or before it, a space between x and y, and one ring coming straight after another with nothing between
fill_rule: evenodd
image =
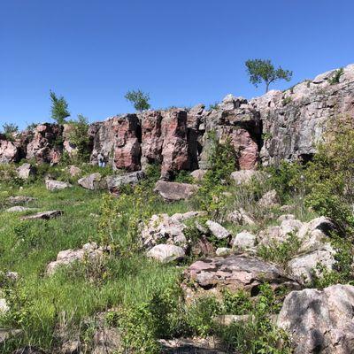
<instances>
[{"instance_id":1,"label":"rightmost lone tree with spreading crown on top of the cliff","mask_svg":"<svg viewBox=\"0 0 354 354\"><path fill-rule=\"evenodd\" d=\"M281 66L279 66L278 69L275 69L269 59L247 60L245 65L247 68L247 73L250 76L250 82L257 88L258 84L264 81L266 83L266 92L268 92L269 85L273 81L290 81L293 74L293 72L289 70L282 69Z\"/></svg>"}]
</instances>

